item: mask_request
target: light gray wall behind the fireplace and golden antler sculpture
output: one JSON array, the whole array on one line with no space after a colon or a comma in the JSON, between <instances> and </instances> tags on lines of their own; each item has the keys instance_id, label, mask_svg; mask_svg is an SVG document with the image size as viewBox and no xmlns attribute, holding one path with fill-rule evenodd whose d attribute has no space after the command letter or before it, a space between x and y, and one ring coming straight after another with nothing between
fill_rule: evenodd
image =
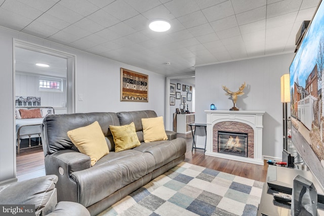
<instances>
[{"instance_id":1,"label":"light gray wall behind the fireplace and golden antler sculpture","mask_svg":"<svg viewBox=\"0 0 324 216\"><path fill-rule=\"evenodd\" d=\"M218 110L229 110L233 103L225 95L222 85L237 91L244 81L244 95L238 97L240 110L263 110L263 155L281 158L282 104L280 77L289 73L294 53L196 67L195 113L196 122L206 122L204 110L213 103ZM200 143L205 132L200 132Z\"/></svg>"}]
</instances>

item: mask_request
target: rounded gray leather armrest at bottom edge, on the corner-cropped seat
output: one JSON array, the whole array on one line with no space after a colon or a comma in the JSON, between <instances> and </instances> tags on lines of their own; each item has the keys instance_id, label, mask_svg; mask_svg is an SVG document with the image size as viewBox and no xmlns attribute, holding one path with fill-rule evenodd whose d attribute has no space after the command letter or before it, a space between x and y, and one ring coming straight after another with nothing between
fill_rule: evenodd
<instances>
[{"instance_id":1,"label":"rounded gray leather armrest at bottom edge, on the corner-cropped seat","mask_svg":"<svg viewBox=\"0 0 324 216\"><path fill-rule=\"evenodd\" d=\"M55 209L47 215L49 216L62 216L62 215L90 216L90 212L82 204L76 202L62 201L57 203Z\"/></svg>"}]
</instances>

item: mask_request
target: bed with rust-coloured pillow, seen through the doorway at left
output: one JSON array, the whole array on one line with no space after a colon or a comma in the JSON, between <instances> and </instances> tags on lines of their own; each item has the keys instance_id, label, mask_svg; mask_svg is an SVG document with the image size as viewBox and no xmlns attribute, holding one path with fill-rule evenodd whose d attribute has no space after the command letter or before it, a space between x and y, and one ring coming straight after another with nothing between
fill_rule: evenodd
<instances>
[{"instance_id":1,"label":"bed with rust-coloured pillow, seen through the doorway at left","mask_svg":"<svg viewBox=\"0 0 324 216\"><path fill-rule=\"evenodd\" d=\"M54 114L53 107L19 107L15 109L17 153L21 149L33 148L41 144L41 124L47 114ZM38 139L38 145L31 145L31 139ZM28 139L27 147L21 148L22 139Z\"/></svg>"}]
</instances>

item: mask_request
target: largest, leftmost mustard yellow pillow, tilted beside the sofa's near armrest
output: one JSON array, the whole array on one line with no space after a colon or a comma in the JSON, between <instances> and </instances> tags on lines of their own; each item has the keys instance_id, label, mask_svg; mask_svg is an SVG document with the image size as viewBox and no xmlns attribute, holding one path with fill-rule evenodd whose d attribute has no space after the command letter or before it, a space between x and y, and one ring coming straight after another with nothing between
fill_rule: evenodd
<instances>
[{"instance_id":1,"label":"largest, leftmost mustard yellow pillow, tilted beside the sofa's near armrest","mask_svg":"<svg viewBox=\"0 0 324 216\"><path fill-rule=\"evenodd\" d=\"M91 165L109 153L105 136L101 131L98 121L84 127L72 129L67 132L76 148L91 158Z\"/></svg>"}]
</instances>

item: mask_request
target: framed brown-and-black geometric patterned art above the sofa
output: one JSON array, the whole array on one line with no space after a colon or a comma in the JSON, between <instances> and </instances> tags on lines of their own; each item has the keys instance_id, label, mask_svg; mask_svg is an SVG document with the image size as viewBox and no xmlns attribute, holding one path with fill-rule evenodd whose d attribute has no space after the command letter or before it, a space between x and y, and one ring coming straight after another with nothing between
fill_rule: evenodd
<instances>
[{"instance_id":1,"label":"framed brown-and-black geometric patterned art above the sofa","mask_svg":"<svg viewBox=\"0 0 324 216\"><path fill-rule=\"evenodd\" d=\"M148 75L120 68L120 101L148 102Z\"/></svg>"}]
</instances>

